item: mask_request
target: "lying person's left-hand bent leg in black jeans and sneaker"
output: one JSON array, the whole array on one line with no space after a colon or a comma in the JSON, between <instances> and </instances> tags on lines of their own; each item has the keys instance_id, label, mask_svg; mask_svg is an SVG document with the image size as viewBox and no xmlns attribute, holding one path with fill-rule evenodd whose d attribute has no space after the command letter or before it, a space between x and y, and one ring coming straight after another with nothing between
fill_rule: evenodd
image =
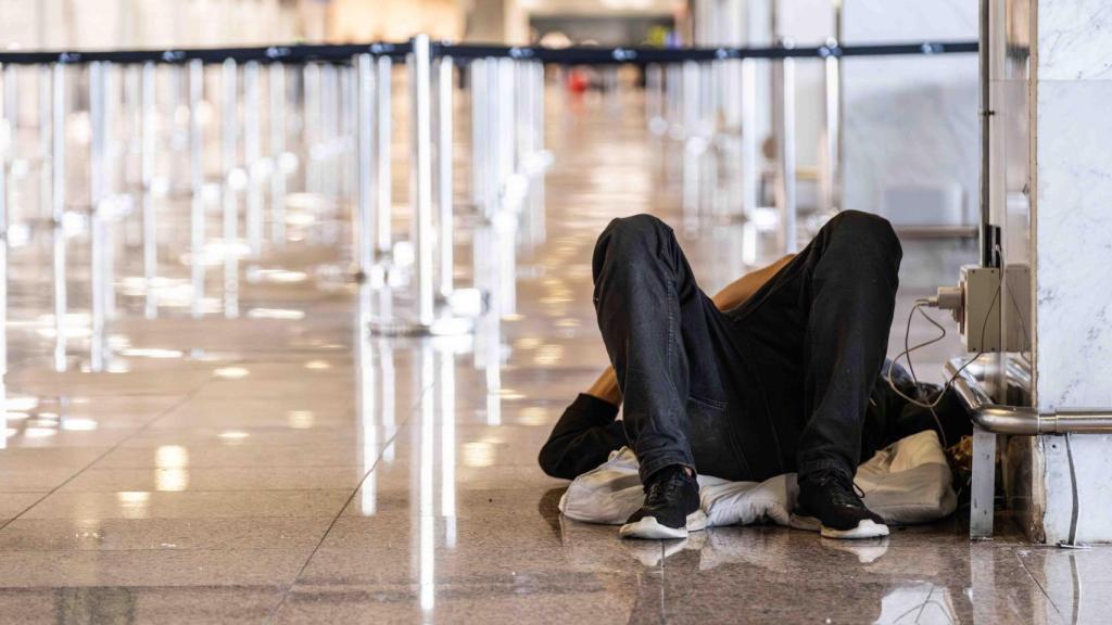
<instances>
[{"instance_id":1,"label":"lying person's left-hand bent leg in black jeans and sneaker","mask_svg":"<svg viewBox=\"0 0 1112 625\"><path fill-rule=\"evenodd\" d=\"M672 229L655 217L614 220L593 265L598 327L645 487L644 505L619 534L686 537L706 526L694 470L737 464L729 462L716 365L728 321L695 284Z\"/></svg>"}]
</instances>

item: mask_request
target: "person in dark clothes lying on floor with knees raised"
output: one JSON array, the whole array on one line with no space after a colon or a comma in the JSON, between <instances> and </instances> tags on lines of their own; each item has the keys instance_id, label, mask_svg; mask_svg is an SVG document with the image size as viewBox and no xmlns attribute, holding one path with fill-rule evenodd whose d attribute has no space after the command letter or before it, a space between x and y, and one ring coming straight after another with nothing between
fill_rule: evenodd
<instances>
[{"instance_id":1,"label":"person in dark clothes lying on floor with knees raised","mask_svg":"<svg viewBox=\"0 0 1112 625\"><path fill-rule=\"evenodd\" d=\"M796 513L817 519L824 536L887 535L855 493L857 465L915 431L942 428L946 445L971 428L953 397L936 418L882 379L902 256L885 219L847 210L800 254L711 298L667 225L615 219L592 262L612 367L567 407L540 467L574 479L612 450L633 449L645 503L624 537L705 527L696 472L746 482L796 472ZM895 371L903 395L937 396Z\"/></svg>"}]
</instances>

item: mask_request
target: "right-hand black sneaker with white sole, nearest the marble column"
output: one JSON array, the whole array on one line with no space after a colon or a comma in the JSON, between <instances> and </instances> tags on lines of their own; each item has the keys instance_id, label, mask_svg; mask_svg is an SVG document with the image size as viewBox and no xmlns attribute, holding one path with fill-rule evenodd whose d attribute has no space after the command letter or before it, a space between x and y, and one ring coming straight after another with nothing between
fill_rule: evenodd
<instances>
[{"instance_id":1,"label":"right-hand black sneaker with white sole, nearest the marble column","mask_svg":"<svg viewBox=\"0 0 1112 625\"><path fill-rule=\"evenodd\" d=\"M800 478L796 525L814 528L827 538L877 538L888 526L854 490L853 479L824 470Z\"/></svg>"}]
</instances>

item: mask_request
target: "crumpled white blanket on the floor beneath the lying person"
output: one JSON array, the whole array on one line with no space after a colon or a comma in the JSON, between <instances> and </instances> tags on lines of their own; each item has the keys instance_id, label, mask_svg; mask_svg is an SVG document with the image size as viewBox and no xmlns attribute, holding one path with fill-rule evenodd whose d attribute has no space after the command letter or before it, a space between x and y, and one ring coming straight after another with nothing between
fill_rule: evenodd
<instances>
[{"instance_id":1,"label":"crumpled white blanket on the floor beneath the lying person","mask_svg":"<svg viewBox=\"0 0 1112 625\"><path fill-rule=\"evenodd\" d=\"M933 430L902 438L857 467L854 479L868 508L888 524L930 523L954 512L957 497L950 466ZM709 525L775 523L792 525L798 495L795 474L761 483L698 476ZM565 516L586 523L620 525L644 502L637 458L623 447L598 468L577 477L560 498Z\"/></svg>"}]
</instances>

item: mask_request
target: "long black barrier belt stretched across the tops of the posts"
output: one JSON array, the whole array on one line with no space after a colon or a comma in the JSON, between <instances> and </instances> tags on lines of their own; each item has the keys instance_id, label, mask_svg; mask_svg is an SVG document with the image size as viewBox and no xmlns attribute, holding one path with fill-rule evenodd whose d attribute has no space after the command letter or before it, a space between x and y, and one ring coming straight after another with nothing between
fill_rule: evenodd
<instances>
[{"instance_id":1,"label":"long black barrier belt stretched across the tops of the posts","mask_svg":"<svg viewBox=\"0 0 1112 625\"><path fill-rule=\"evenodd\" d=\"M346 63L357 54L404 58L413 49L406 43L360 43L342 46L270 46L267 48L199 48L183 50L115 50L115 51L57 51L57 52L0 52L0 63L46 65L88 63L183 63L199 60L205 63L237 62L338 62ZM434 57L459 60L509 58L536 60L556 65L622 65L622 63L678 63L686 61L715 61L723 59L802 59L841 57L933 56L971 53L977 51L976 41L922 41L914 43L876 43L864 46L826 44L808 48L778 46L774 48L602 48L579 46L572 48L542 48L522 46L493 46L438 42L431 46Z\"/></svg>"}]
</instances>

